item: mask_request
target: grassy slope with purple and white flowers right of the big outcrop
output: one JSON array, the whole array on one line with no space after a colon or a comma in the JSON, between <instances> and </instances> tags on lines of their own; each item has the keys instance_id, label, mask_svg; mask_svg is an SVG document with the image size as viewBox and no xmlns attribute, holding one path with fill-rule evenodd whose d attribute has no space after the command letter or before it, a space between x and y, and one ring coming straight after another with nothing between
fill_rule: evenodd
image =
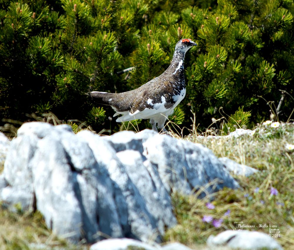
<instances>
[{"instance_id":1,"label":"grassy slope with purple and white flowers right of the big outcrop","mask_svg":"<svg viewBox=\"0 0 294 250\"><path fill-rule=\"evenodd\" d=\"M279 127L259 126L252 136L235 137L197 137L185 140L201 143L210 148L218 157L228 157L240 164L254 167L260 172L251 177L236 177L241 188L224 189L204 199L197 195L189 197L173 195L175 212L179 224L168 230L166 240L177 240L197 249L211 234L227 229L235 229L234 222L254 225L249 230L269 234L269 228L259 225L277 225L280 237L275 239L285 248L294 249L294 150L287 144L294 142L293 123L280 124ZM271 194L277 189L278 194ZM214 209L208 209L210 202ZM225 212L230 210L229 215ZM204 216L222 219L220 227L203 222Z\"/></svg>"}]
</instances>

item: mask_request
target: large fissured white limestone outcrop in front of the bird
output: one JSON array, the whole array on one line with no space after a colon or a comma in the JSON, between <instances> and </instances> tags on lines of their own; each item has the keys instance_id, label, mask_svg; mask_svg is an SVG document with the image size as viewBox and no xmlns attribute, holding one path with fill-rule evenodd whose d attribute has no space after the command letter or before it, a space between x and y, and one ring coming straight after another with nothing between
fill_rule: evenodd
<instances>
[{"instance_id":1,"label":"large fissured white limestone outcrop in front of the bird","mask_svg":"<svg viewBox=\"0 0 294 250\"><path fill-rule=\"evenodd\" d=\"M209 185L213 180L218 183ZM200 144L151 130L99 136L67 125L25 123L10 142L0 201L38 209L53 232L72 242L132 238L161 242L176 225L170 194L239 185Z\"/></svg>"}]
</instances>

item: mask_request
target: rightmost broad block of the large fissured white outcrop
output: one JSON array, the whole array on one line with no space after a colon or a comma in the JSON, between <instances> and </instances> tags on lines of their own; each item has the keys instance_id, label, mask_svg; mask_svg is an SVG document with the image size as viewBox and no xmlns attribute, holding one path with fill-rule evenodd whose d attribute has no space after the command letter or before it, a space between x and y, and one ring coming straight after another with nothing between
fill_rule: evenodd
<instances>
[{"instance_id":1,"label":"rightmost broad block of the large fissured white outcrop","mask_svg":"<svg viewBox=\"0 0 294 250\"><path fill-rule=\"evenodd\" d=\"M177 140L168 135L155 135L143 143L144 154L159 176L165 188L191 194L193 190L205 187L205 193L212 193L224 186L238 188L223 164L200 144ZM209 184L216 181L216 184Z\"/></svg>"}]
</instances>

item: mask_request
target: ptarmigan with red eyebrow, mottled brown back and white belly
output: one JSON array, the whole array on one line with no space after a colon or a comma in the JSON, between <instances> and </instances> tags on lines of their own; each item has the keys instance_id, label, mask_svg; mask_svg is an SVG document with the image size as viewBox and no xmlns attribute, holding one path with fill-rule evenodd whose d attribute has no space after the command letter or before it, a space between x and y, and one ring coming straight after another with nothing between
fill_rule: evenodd
<instances>
[{"instance_id":1,"label":"ptarmigan with red eyebrow, mottled brown back and white belly","mask_svg":"<svg viewBox=\"0 0 294 250\"><path fill-rule=\"evenodd\" d=\"M178 41L166 71L139 88L123 93L92 91L90 95L97 103L110 105L116 111L113 117L122 115L116 119L117 122L150 119L153 130L158 131L158 127L166 131L164 123L167 117L186 94L185 54L196 45L191 39Z\"/></svg>"}]
</instances>

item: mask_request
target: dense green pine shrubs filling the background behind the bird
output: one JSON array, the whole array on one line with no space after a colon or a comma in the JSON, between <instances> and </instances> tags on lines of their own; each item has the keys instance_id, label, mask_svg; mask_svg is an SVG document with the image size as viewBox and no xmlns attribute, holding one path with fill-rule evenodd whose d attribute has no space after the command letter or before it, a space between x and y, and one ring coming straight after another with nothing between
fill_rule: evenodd
<instances>
[{"instance_id":1,"label":"dense green pine shrubs filling the background behind the bird","mask_svg":"<svg viewBox=\"0 0 294 250\"><path fill-rule=\"evenodd\" d=\"M266 101L277 106L280 90L289 95L279 119L294 108L293 1L0 0L0 6L0 118L25 121L26 114L51 111L97 131L114 129L113 110L93 107L85 93L127 91L160 75L181 38L198 46L186 55L181 117L172 117L180 126L190 126L192 110L199 128L208 127L222 116L220 107L230 116L225 131L261 122L270 115ZM121 73L129 67L135 69Z\"/></svg>"}]
</instances>

